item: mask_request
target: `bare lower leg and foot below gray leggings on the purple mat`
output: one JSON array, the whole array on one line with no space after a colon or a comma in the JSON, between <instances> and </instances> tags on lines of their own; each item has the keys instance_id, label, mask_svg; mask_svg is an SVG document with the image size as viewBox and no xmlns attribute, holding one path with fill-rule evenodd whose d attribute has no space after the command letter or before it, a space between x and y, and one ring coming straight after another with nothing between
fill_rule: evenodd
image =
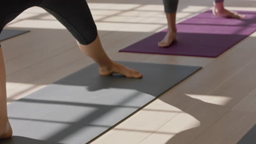
<instances>
[{"instance_id":1,"label":"bare lower leg and foot below gray leggings on the purple mat","mask_svg":"<svg viewBox=\"0 0 256 144\"><path fill-rule=\"evenodd\" d=\"M167 23L168 23L168 31L159 43L159 47L168 47L172 43L177 41L177 28L176 28L176 13L166 13Z\"/></svg>"}]
</instances>

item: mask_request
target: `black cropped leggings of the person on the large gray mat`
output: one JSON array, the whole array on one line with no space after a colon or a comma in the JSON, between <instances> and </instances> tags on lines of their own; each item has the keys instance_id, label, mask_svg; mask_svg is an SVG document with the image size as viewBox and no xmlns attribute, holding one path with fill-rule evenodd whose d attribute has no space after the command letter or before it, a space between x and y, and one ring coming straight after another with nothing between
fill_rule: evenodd
<instances>
[{"instance_id":1,"label":"black cropped leggings of the person on the large gray mat","mask_svg":"<svg viewBox=\"0 0 256 144\"><path fill-rule=\"evenodd\" d=\"M80 44L88 45L97 37L97 28L85 0L8 0L0 5L0 33L22 11L40 7L56 17Z\"/></svg>"}]
</instances>

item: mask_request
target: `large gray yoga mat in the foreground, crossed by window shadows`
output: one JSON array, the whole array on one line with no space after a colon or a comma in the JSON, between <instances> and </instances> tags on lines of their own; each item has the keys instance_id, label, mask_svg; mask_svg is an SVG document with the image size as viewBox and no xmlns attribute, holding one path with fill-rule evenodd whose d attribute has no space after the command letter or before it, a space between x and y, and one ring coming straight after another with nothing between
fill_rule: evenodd
<instances>
[{"instance_id":1,"label":"large gray yoga mat in the foreground, crossed by window shadows","mask_svg":"<svg viewBox=\"0 0 256 144\"><path fill-rule=\"evenodd\" d=\"M137 69L143 78L129 79L118 74L100 76L97 65L92 64L9 104L8 116L14 135L27 141L90 142L201 69L184 65L120 63Z\"/></svg>"}]
</instances>

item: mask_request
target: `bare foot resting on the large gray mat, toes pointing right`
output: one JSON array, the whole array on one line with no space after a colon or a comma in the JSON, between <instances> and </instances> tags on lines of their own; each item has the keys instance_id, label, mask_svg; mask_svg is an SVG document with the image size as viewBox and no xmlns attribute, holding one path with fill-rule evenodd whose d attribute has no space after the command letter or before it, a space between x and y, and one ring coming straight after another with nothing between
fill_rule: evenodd
<instances>
[{"instance_id":1,"label":"bare foot resting on the large gray mat, toes pointing right","mask_svg":"<svg viewBox=\"0 0 256 144\"><path fill-rule=\"evenodd\" d=\"M112 62L112 65L108 67L100 67L99 72L101 75L112 75L114 73L123 74L126 77L130 78L142 78L142 74L140 74L137 70L130 69L116 62Z\"/></svg>"}]
</instances>

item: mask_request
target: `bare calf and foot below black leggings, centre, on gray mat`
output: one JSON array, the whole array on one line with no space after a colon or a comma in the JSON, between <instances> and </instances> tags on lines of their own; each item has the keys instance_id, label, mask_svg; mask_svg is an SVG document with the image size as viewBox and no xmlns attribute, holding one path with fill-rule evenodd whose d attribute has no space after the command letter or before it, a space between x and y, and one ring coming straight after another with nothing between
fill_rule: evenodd
<instances>
[{"instance_id":1,"label":"bare calf and foot below black leggings, centre, on gray mat","mask_svg":"<svg viewBox=\"0 0 256 144\"><path fill-rule=\"evenodd\" d=\"M78 46L85 55L91 57L99 66L99 73L101 75L112 75L114 73L123 74L126 77L141 78L142 74L138 71L125 67L124 65L113 62L103 50L100 38L97 38L89 45Z\"/></svg>"}]
</instances>

